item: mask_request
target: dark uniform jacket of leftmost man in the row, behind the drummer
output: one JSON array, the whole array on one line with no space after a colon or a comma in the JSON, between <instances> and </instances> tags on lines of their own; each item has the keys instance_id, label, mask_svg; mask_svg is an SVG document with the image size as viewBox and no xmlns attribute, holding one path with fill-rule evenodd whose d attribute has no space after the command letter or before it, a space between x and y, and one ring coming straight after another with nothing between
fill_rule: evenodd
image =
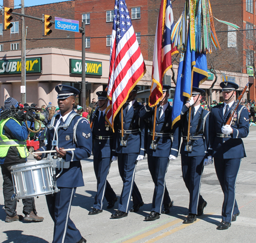
<instances>
[{"instance_id":1,"label":"dark uniform jacket of leftmost man in the row, behind the drummer","mask_svg":"<svg viewBox=\"0 0 256 243\"><path fill-rule=\"evenodd\" d=\"M104 119L99 120L99 112L93 123L93 154L99 154L98 157L110 158L115 156L115 150L113 149L113 131L109 126L109 123ZM112 139L95 139L95 136L112 136Z\"/></svg>"}]
</instances>

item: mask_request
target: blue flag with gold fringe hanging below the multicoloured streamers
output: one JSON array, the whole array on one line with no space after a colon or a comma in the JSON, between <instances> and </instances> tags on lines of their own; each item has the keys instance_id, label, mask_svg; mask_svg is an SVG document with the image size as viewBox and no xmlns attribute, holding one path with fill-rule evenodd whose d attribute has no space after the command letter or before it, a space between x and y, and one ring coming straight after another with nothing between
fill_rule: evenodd
<instances>
[{"instance_id":1,"label":"blue flag with gold fringe hanging below the multicoloured streamers","mask_svg":"<svg viewBox=\"0 0 256 243\"><path fill-rule=\"evenodd\" d=\"M174 126L174 124L180 119L182 106L187 98L191 97L192 70L194 71L193 86L199 87L200 84L208 79L206 54L190 51L190 40L188 35L186 52L181 53L178 67L178 76L172 111L172 126Z\"/></svg>"}]
</instances>

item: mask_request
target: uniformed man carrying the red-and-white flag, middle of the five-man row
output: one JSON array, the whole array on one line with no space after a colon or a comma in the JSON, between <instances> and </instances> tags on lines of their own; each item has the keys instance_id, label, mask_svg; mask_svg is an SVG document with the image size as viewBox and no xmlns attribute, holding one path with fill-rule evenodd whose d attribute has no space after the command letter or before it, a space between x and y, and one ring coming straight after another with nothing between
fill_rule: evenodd
<instances>
[{"instance_id":1,"label":"uniformed man carrying the red-and-white flag, middle of the five-man row","mask_svg":"<svg viewBox=\"0 0 256 243\"><path fill-rule=\"evenodd\" d=\"M156 114L155 140L152 141L154 108L144 106L140 110L140 118L149 118L149 132L147 137L147 163L155 184L151 213L145 217L146 221L154 221L160 218L161 213L169 213L173 206L165 185L165 174L169 160L175 160L179 151L178 126L172 130L172 106L168 102L169 85L163 85L163 98L159 102ZM173 133L177 133L177 141L172 141ZM163 210L162 210L163 204Z\"/></svg>"}]
</instances>

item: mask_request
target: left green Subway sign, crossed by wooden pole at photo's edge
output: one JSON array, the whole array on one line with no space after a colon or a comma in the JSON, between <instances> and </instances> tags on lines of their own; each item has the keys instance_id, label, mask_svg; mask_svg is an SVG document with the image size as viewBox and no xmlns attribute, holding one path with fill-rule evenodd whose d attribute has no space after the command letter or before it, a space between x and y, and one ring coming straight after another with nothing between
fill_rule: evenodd
<instances>
[{"instance_id":1,"label":"left green Subway sign, crossed by wooden pole at photo's edge","mask_svg":"<svg viewBox=\"0 0 256 243\"><path fill-rule=\"evenodd\" d=\"M26 73L42 72L42 58L26 58ZM0 60L0 75L21 74L22 59Z\"/></svg>"}]
</instances>

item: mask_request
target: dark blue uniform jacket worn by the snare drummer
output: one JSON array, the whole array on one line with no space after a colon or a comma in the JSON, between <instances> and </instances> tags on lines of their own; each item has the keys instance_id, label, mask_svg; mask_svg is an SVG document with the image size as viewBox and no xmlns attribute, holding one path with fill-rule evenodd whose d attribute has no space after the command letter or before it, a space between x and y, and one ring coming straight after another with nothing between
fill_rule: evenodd
<instances>
[{"instance_id":1,"label":"dark blue uniform jacket worn by the snare drummer","mask_svg":"<svg viewBox=\"0 0 256 243\"><path fill-rule=\"evenodd\" d=\"M75 113L72 111L71 113ZM70 113L70 114L71 114ZM55 118L55 124L60 115ZM68 118L67 118L68 119ZM78 122L79 119L79 122ZM66 120L67 121L67 120ZM74 129L76 127L76 140L74 137ZM41 147L40 151L51 150L54 129L49 130L46 134L48 144ZM70 123L70 126L65 130L60 128L58 130L58 148L75 149L75 151L68 151L66 154L66 161L70 161L70 167L63 169L63 172L57 178L58 187L73 188L83 186L82 169L80 160L89 158L92 151L92 132L89 122L86 118L75 116ZM55 149L55 148L54 148ZM44 154L43 154L44 156ZM60 171L56 169L56 174Z\"/></svg>"}]
</instances>

